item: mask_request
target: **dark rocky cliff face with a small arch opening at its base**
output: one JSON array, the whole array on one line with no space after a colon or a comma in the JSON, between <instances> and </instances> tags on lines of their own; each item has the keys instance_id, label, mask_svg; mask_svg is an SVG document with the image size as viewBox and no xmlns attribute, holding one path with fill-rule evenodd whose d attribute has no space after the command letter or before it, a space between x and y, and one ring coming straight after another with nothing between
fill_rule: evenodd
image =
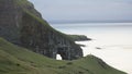
<instances>
[{"instance_id":1,"label":"dark rocky cliff face with a small arch opening at its base","mask_svg":"<svg viewBox=\"0 0 132 74\"><path fill-rule=\"evenodd\" d=\"M54 59L82 57L80 47L52 28L26 0L0 0L0 37Z\"/></svg>"}]
</instances>

